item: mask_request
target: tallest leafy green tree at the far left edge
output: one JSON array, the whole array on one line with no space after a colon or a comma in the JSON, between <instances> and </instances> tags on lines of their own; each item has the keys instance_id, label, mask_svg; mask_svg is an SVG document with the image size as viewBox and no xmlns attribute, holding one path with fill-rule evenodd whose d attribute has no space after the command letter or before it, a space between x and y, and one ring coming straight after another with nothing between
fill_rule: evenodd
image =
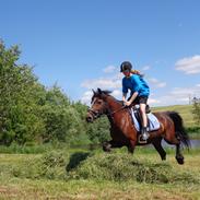
<instances>
[{"instance_id":1,"label":"tallest leafy green tree at the far left edge","mask_svg":"<svg viewBox=\"0 0 200 200\"><path fill-rule=\"evenodd\" d=\"M0 142L25 143L44 130L37 115L45 90L32 68L16 64L17 46L9 49L0 42Z\"/></svg>"}]
</instances>

